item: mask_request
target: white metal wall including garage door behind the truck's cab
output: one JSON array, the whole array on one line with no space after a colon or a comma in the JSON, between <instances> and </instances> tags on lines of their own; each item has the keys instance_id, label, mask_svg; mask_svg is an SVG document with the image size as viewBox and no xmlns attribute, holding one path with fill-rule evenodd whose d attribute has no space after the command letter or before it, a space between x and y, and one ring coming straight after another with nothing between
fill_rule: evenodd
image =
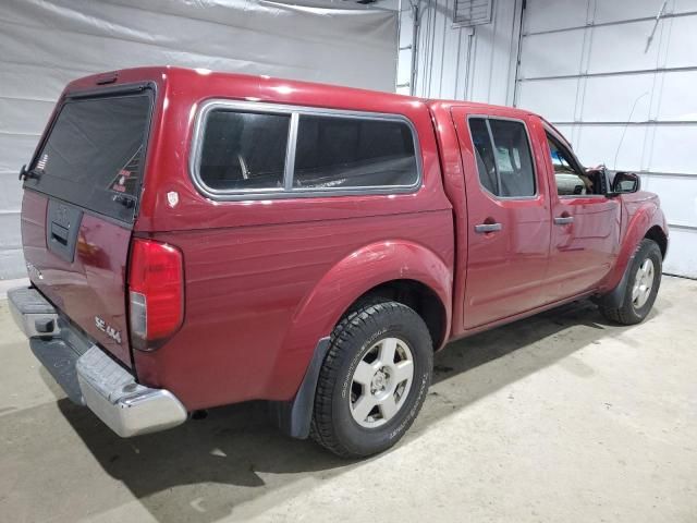
<instances>
[{"instance_id":1,"label":"white metal wall including garage door behind the truck's cab","mask_svg":"<svg viewBox=\"0 0 697 523\"><path fill-rule=\"evenodd\" d=\"M454 0L418 0L414 45L402 0L398 90L530 109L584 163L639 172L671 224L664 270L697 277L697 0L492 1L490 24L454 27Z\"/></svg>"}]
</instances>

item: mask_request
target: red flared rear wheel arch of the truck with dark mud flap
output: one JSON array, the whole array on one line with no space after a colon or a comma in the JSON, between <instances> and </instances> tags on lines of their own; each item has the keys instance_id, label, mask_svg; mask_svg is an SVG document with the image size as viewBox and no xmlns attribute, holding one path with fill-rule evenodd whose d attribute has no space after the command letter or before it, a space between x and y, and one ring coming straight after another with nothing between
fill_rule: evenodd
<instances>
[{"instance_id":1,"label":"red flared rear wheel arch of the truck with dark mud flap","mask_svg":"<svg viewBox=\"0 0 697 523\"><path fill-rule=\"evenodd\" d=\"M452 266L413 242L381 242L351 253L328 270L298 305L279 350L269 382L292 381L289 373L297 379L292 390L281 391L288 400L277 401L277 421L283 431L307 437L319 367L337 326L357 304L376 299L394 301L388 300L390 296L396 296L398 303L424 320L433 348L447 341Z\"/></svg>"}]
</instances>

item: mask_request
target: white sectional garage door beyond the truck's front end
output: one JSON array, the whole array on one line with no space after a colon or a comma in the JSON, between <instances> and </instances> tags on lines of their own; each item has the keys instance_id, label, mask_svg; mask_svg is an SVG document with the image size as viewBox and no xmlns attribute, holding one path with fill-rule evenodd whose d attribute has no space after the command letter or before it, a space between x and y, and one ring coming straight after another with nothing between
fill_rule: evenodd
<instances>
[{"instance_id":1,"label":"white sectional garage door beyond the truck's front end","mask_svg":"<svg viewBox=\"0 0 697 523\"><path fill-rule=\"evenodd\" d=\"M671 226L664 270L697 277L697 0L527 0L516 105L582 161L641 174Z\"/></svg>"}]
</instances>

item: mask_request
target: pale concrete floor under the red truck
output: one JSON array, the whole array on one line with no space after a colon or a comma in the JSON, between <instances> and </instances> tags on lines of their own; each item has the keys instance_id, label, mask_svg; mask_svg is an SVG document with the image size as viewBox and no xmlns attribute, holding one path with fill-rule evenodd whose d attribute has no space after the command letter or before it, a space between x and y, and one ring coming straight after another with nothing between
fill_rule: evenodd
<instances>
[{"instance_id":1,"label":"pale concrete floor under the red truck","mask_svg":"<svg viewBox=\"0 0 697 523\"><path fill-rule=\"evenodd\" d=\"M262 405L119 439L0 302L0 521L697 522L697 282L643 325L580 302L453 343L392 451L345 462Z\"/></svg>"}]
</instances>

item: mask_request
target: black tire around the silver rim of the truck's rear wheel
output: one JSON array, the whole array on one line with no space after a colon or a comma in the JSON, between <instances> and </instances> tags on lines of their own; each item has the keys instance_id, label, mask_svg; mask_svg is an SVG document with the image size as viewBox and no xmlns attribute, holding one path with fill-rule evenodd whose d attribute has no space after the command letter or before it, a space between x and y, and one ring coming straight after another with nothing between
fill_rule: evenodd
<instances>
[{"instance_id":1,"label":"black tire around the silver rim of the truck's rear wheel","mask_svg":"<svg viewBox=\"0 0 697 523\"><path fill-rule=\"evenodd\" d=\"M394 416L379 427L359 425L351 413L354 370L368 351L387 338L403 340L411 350L414 375ZM310 437L342 458L365 458L396 443L424 404L433 367L432 342L421 317L396 302L366 303L334 328L315 394Z\"/></svg>"}]
</instances>

